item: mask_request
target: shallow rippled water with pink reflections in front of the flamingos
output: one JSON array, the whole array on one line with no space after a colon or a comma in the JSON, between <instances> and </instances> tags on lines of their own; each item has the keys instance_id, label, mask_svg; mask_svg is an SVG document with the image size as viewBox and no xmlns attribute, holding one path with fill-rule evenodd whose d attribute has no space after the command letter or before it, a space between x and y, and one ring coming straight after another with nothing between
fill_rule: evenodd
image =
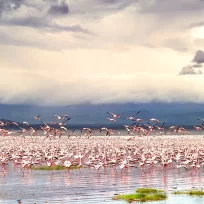
<instances>
[{"instance_id":1,"label":"shallow rippled water with pink reflections in front of the flamingos","mask_svg":"<svg viewBox=\"0 0 204 204\"><path fill-rule=\"evenodd\" d=\"M100 174L88 168L67 171L31 171L26 170L24 176L19 169L13 171L9 165L5 175L0 174L0 204L17 203L22 199L23 204L49 203L49 204L84 204L84 203L112 203L121 204L124 201L113 201L114 194L133 193L139 187L156 187L168 192L166 201L151 202L160 204L200 204L204 197L189 197L172 195L172 190L184 190L204 187L204 172L191 172L182 170L150 171L141 174L137 168L128 169L121 173L119 169L108 168Z\"/></svg>"}]
</instances>

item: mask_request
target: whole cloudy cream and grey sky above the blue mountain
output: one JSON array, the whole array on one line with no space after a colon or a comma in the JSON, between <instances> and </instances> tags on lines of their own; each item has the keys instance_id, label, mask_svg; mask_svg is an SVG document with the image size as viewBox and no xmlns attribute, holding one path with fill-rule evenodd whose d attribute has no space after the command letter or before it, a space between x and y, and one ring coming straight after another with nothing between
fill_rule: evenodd
<instances>
[{"instance_id":1,"label":"whole cloudy cream and grey sky above the blue mountain","mask_svg":"<svg viewBox=\"0 0 204 204\"><path fill-rule=\"evenodd\" d=\"M1 0L0 103L203 103L204 0Z\"/></svg>"}]
</instances>

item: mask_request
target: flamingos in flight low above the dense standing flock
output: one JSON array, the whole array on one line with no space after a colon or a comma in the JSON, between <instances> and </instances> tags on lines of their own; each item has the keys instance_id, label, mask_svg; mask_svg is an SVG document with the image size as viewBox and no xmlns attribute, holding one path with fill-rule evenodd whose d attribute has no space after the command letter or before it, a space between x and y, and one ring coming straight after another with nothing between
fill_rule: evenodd
<instances>
[{"instance_id":1,"label":"flamingos in flight low above the dense standing flock","mask_svg":"<svg viewBox=\"0 0 204 204\"><path fill-rule=\"evenodd\" d=\"M170 135L170 134L178 134L178 135L184 135L187 134L188 131L184 127L180 126L171 126L168 128L165 128L165 122L162 122L160 124L160 121L156 118L150 118L149 120L146 120L146 123L144 119L142 118L136 118L136 116L140 113L138 111L134 116L129 117L122 117L123 113L112 113L107 112L111 117L106 118L106 120L109 120L111 122L116 122L118 119L126 120L127 122L130 121L132 124L130 125L124 125L123 127L127 131L127 135L131 136L138 136L138 137L144 137L144 136L151 136L151 135ZM113 130L109 129L107 127L101 127L99 129L91 129L88 127L84 127L81 129L81 135L76 134L75 130L69 130L67 128L67 122L71 119L68 115L54 115L52 118L54 118L54 121L51 121L49 123L45 123L41 120L41 115L32 117L34 120L37 120L41 123L41 125L38 128L32 127L28 122L24 121L22 123L17 123L14 121L9 122L2 122L0 121L0 133L2 136L37 136L40 134L40 132L47 137L47 138L56 138L61 137L63 135L70 137L82 137L87 136L87 138L90 138L91 136L97 135L102 133L105 136L111 136L111 135L120 135L119 130ZM199 125L194 125L193 128L197 131L201 131L204 129L204 121L201 120L202 123ZM143 124L141 124L143 123ZM14 131L14 129L18 129L18 131Z\"/></svg>"}]
</instances>

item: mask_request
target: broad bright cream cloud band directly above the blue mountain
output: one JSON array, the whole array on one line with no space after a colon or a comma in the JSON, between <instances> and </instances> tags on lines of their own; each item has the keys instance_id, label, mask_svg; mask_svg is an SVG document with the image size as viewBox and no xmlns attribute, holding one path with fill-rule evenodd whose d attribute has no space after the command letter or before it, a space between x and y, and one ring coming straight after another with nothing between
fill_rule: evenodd
<instances>
[{"instance_id":1,"label":"broad bright cream cloud band directly above the blue mountain","mask_svg":"<svg viewBox=\"0 0 204 204\"><path fill-rule=\"evenodd\" d=\"M169 49L132 46L126 51L56 52L8 45L0 48L4 50L0 56L1 103L204 102L202 74L176 76L192 56Z\"/></svg>"}]
</instances>

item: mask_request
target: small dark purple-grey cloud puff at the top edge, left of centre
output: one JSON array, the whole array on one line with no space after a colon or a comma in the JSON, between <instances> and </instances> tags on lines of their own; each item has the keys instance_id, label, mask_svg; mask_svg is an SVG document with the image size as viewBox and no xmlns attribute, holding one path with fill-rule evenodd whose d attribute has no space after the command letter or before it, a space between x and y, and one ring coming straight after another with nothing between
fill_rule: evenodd
<instances>
[{"instance_id":1,"label":"small dark purple-grey cloud puff at the top edge, left of centre","mask_svg":"<svg viewBox=\"0 0 204 204\"><path fill-rule=\"evenodd\" d=\"M57 5L52 5L48 13L51 15L67 15L69 13L69 7L66 1L61 1Z\"/></svg>"}]
</instances>

